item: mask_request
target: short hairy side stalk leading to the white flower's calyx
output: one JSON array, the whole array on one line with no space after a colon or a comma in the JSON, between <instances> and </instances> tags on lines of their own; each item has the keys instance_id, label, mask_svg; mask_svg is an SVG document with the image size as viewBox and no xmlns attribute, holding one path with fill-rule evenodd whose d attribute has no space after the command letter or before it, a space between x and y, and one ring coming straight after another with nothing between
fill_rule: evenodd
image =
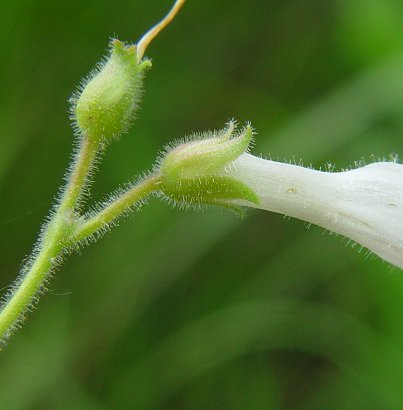
<instances>
[{"instance_id":1,"label":"short hairy side stalk leading to the white flower's calyx","mask_svg":"<svg viewBox=\"0 0 403 410\"><path fill-rule=\"evenodd\" d=\"M78 226L70 236L68 245L74 245L90 237L95 232L107 227L113 220L124 214L135 203L141 201L147 195L156 191L160 181L160 175L151 175L127 192L123 193L102 211L98 212L92 218L86 220L82 225Z\"/></svg>"}]
</instances>

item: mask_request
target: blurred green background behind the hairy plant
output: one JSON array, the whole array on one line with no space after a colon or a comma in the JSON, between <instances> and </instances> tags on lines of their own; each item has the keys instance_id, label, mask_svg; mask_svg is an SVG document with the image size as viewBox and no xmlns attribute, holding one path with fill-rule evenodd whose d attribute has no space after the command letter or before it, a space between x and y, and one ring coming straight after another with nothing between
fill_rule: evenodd
<instances>
[{"instance_id":1,"label":"blurred green background behind the hairy plant","mask_svg":"<svg viewBox=\"0 0 403 410\"><path fill-rule=\"evenodd\" d=\"M67 99L170 0L2 0L0 287L72 150ZM254 153L342 169L403 153L402 0L188 0L95 199L232 117ZM1 409L401 409L403 275L281 215L152 199L66 261L0 356Z\"/></svg>"}]
</instances>

